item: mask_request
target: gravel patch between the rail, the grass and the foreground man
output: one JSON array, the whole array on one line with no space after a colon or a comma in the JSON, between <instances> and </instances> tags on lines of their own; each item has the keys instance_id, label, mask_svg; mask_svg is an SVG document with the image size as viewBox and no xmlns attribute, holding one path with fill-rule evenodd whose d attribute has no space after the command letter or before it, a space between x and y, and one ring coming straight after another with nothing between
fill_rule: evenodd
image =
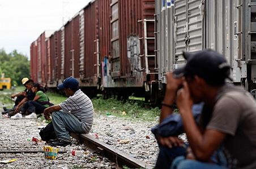
<instances>
[{"instance_id":1,"label":"gravel patch between the rail, the grass and the foreground man","mask_svg":"<svg viewBox=\"0 0 256 169\"><path fill-rule=\"evenodd\" d=\"M133 121L113 117L112 115L95 115L91 135L97 134L99 140L130 154L132 157L144 161L152 166L156 163L159 148L151 127L155 122Z\"/></svg>"}]
</instances>

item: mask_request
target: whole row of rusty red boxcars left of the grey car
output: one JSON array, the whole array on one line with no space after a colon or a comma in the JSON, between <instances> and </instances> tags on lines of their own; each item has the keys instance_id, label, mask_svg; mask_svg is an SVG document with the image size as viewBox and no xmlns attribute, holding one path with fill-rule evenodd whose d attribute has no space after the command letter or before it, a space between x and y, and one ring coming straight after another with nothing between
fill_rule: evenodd
<instances>
[{"instance_id":1,"label":"whole row of rusty red boxcars left of the grey car","mask_svg":"<svg viewBox=\"0 0 256 169\"><path fill-rule=\"evenodd\" d=\"M57 87L73 76L95 94L150 94L158 75L154 14L155 0L91 1L46 43L44 34L37 40L37 81Z\"/></svg>"}]
</instances>

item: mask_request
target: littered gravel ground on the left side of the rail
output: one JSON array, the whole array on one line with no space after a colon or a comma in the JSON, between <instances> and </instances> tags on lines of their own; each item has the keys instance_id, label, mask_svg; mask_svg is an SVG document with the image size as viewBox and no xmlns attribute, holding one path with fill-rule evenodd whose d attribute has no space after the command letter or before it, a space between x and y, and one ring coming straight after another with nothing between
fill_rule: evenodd
<instances>
[{"instance_id":1,"label":"littered gravel ground on the left side of the rail","mask_svg":"<svg viewBox=\"0 0 256 169\"><path fill-rule=\"evenodd\" d=\"M42 150L43 144L34 145L28 138L39 136L39 126L42 123L29 119L0 118L0 145L1 150ZM72 141L75 143L75 140ZM86 149L84 145L71 145L76 150ZM60 151L71 149L70 146L60 148ZM18 159L15 162L2 164L0 168L113 168L106 158L90 153L88 157L72 157L67 153L58 154L56 160L46 159L44 153L0 154L0 161ZM113 166L113 167L112 167Z\"/></svg>"}]
</instances>

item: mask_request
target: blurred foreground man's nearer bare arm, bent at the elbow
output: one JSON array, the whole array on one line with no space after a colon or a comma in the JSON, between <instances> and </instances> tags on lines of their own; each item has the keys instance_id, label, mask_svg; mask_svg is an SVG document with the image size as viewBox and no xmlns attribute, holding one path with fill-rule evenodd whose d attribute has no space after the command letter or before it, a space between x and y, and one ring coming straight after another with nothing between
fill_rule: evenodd
<instances>
[{"instance_id":1,"label":"blurred foreground man's nearer bare arm, bent at the elbow","mask_svg":"<svg viewBox=\"0 0 256 169\"><path fill-rule=\"evenodd\" d=\"M223 143L227 134L217 130L200 131L191 112L193 101L191 100L186 82L184 82L184 87L178 91L177 104L180 109L187 139L195 157L200 161L208 161L214 151Z\"/></svg>"}]
</instances>

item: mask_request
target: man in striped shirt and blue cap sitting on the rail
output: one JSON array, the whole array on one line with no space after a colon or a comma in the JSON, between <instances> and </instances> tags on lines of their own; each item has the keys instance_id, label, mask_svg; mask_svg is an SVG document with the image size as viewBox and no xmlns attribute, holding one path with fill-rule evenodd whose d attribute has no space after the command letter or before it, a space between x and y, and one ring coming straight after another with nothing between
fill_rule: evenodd
<instances>
[{"instance_id":1,"label":"man in striped shirt and blue cap sitting on the rail","mask_svg":"<svg viewBox=\"0 0 256 169\"><path fill-rule=\"evenodd\" d=\"M52 146L70 144L70 132L88 134L93 122L93 105L91 99L79 89L79 82L72 77L66 78L58 86L69 98L61 104L50 106L44 110L46 119L52 113L53 127L57 140L49 140Z\"/></svg>"}]
</instances>

